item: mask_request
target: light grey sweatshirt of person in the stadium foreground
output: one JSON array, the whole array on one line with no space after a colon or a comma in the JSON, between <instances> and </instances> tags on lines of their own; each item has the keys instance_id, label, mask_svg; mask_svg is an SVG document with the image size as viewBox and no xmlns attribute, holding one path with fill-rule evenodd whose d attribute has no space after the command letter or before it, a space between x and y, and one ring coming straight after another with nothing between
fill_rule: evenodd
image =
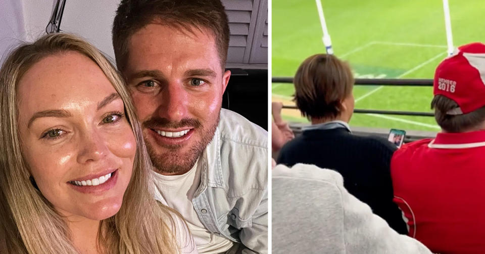
<instances>
[{"instance_id":1,"label":"light grey sweatshirt of person in the stadium foreground","mask_svg":"<svg viewBox=\"0 0 485 254\"><path fill-rule=\"evenodd\" d=\"M347 192L335 171L307 164L277 165L272 197L272 253L431 253Z\"/></svg>"}]
</instances>

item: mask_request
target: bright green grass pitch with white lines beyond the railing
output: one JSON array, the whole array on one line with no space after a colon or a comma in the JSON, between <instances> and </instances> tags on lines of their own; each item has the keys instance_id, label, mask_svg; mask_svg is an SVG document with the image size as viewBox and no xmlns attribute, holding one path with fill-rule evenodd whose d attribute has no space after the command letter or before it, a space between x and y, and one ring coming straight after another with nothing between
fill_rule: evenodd
<instances>
[{"instance_id":1,"label":"bright green grass pitch with white lines beyond the railing","mask_svg":"<svg viewBox=\"0 0 485 254\"><path fill-rule=\"evenodd\" d=\"M483 0L449 0L454 46L485 43ZM334 54L360 78L432 78L447 55L441 0L322 0ZM324 53L315 1L272 2L272 75L293 76L308 56ZM292 84L272 84L287 104ZM431 87L354 87L356 108L432 112ZM284 111L289 121L308 121ZM354 114L351 126L439 131L433 117Z\"/></svg>"}]
</instances>

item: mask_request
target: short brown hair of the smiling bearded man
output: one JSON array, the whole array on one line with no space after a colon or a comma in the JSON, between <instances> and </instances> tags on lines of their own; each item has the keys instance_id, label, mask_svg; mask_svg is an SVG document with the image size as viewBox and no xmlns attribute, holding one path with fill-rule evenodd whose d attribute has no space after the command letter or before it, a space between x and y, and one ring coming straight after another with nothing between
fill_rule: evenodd
<instances>
[{"instance_id":1,"label":"short brown hair of the smiling bearded man","mask_svg":"<svg viewBox=\"0 0 485 254\"><path fill-rule=\"evenodd\" d=\"M220 0L122 0L113 21L113 48L120 71L128 61L131 35L151 23L188 31L193 28L211 31L224 69L229 47L229 24Z\"/></svg>"}]
</instances>

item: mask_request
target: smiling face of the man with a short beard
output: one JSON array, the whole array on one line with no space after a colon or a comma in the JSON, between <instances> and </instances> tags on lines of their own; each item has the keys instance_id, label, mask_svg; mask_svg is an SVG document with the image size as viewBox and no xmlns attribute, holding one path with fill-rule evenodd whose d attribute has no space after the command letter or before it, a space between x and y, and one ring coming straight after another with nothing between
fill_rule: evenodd
<instances>
[{"instance_id":1,"label":"smiling face of the man with a short beard","mask_svg":"<svg viewBox=\"0 0 485 254\"><path fill-rule=\"evenodd\" d=\"M183 174L214 136L230 71L207 29L149 24L128 52L123 75L152 162L161 174Z\"/></svg>"}]
</instances>

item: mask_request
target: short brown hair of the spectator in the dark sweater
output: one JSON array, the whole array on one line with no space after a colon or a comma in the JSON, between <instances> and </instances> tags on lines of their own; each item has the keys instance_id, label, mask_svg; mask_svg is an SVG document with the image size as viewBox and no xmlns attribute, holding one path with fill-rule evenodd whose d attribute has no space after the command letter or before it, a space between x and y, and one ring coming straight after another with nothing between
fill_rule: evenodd
<instances>
[{"instance_id":1,"label":"short brown hair of the spectator in the dark sweater","mask_svg":"<svg viewBox=\"0 0 485 254\"><path fill-rule=\"evenodd\" d=\"M317 54L303 61L293 82L294 101L303 116L335 118L342 111L342 101L352 93L354 77L346 62Z\"/></svg>"}]
</instances>

